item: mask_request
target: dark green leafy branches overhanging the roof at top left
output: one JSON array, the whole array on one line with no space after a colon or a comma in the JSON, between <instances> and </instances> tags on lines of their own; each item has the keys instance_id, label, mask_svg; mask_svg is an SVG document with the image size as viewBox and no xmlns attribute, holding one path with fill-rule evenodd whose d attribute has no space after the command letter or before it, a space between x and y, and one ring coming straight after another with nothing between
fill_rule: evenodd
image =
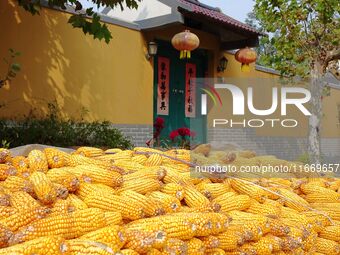
<instances>
[{"instance_id":1,"label":"dark green leafy branches overhanging the roof at top left","mask_svg":"<svg viewBox=\"0 0 340 255\"><path fill-rule=\"evenodd\" d=\"M44 0L17 0L18 4L26 11L33 15L39 14ZM123 10L124 4L130 9L137 9L138 2L141 0L88 0L98 8L99 7L111 7L116 8L119 6ZM73 8L75 14L73 14L69 23L75 27L83 30L85 34L93 35L94 39L104 39L106 43L109 43L112 39L111 32L106 24L102 24L101 17L98 13L93 11L93 8L83 9L83 6L78 0L48 0L48 5L51 7L58 7L65 10L67 7ZM89 19L91 18L91 19Z\"/></svg>"}]
</instances>

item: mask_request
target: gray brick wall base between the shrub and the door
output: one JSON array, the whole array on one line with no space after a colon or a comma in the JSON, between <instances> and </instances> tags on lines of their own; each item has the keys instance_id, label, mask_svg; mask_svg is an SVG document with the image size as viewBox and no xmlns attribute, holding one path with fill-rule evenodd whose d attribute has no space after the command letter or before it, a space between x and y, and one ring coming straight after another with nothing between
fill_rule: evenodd
<instances>
[{"instance_id":1,"label":"gray brick wall base between the shrub and the door","mask_svg":"<svg viewBox=\"0 0 340 255\"><path fill-rule=\"evenodd\" d=\"M125 136L129 137L135 146L146 146L146 142L153 137L152 125L112 124Z\"/></svg>"}]
</instances>

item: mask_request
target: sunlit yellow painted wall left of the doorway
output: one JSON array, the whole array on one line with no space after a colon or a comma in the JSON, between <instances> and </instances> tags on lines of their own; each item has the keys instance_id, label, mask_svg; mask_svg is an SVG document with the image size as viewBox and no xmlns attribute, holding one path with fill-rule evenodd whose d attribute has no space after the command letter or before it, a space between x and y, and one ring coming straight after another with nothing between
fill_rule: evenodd
<instances>
[{"instance_id":1,"label":"sunlit yellow painted wall left of the doorway","mask_svg":"<svg viewBox=\"0 0 340 255\"><path fill-rule=\"evenodd\" d=\"M0 90L0 117L21 117L32 108L47 111L57 100L67 116L123 124L151 124L153 68L138 31L108 25L109 45L73 29L69 14L43 8L31 16L0 1L0 56L8 48L22 53L23 69L9 91ZM0 73L6 66L1 62Z\"/></svg>"}]
</instances>

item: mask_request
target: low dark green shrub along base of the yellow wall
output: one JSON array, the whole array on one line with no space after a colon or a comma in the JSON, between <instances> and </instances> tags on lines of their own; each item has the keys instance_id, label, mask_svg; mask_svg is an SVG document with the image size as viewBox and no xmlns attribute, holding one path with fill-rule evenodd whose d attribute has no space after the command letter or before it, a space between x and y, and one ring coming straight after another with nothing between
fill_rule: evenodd
<instances>
[{"instance_id":1,"label":"low dark green shrub along base of the yellow wall","mask_svg":"<svg viewBox=\"0 0 340 255\"><path fill-rule=\"evenodd\" d=\"M31 114L20 121L0 120L0 141L11 147L26 144L46 144L59 147L93 146L128 149L133 145L118 129L110 123L64 120L58 107L49 104L45 118Z\"/></svg>"}]
</instances>

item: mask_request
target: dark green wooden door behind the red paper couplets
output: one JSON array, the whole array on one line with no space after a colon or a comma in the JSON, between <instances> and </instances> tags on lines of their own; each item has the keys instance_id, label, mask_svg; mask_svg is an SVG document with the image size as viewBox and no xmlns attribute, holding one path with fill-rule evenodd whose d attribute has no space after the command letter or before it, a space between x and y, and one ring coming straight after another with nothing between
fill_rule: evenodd
<instances>
[{"instance_id":1,"label":"dark green wooden door behind the red paper couplets","mask_svg":"<svg viewBox=\"0 0 340 255\"><path fill-rule=\"evenodd\" d=\"M195 143L206 141L206 119L200 114L201 91L196 89L196 117L185 116L185 83L186 64L196 65L196 77L203 78L207 70L207 54L203 50L192 52L191 59L180 59L179 52L168 42L158 41L158 54L154 58L154 119L162 117L165 120L165 128L161 133L161 139L168 139L171 131L181 128L191 128L195 133ZM157 115L158 94L158 59L165 57L169 59L169 114ZM197 82L198 83L198 82ZM197 85L199 87L199 85Z\"/></svg>"}]
</instances>

